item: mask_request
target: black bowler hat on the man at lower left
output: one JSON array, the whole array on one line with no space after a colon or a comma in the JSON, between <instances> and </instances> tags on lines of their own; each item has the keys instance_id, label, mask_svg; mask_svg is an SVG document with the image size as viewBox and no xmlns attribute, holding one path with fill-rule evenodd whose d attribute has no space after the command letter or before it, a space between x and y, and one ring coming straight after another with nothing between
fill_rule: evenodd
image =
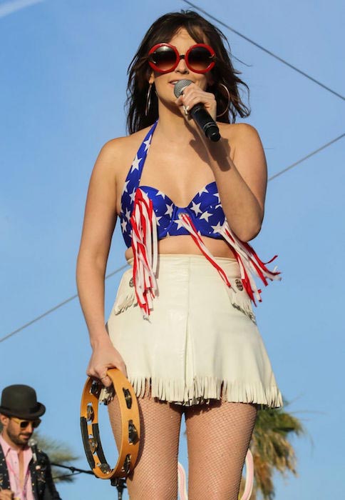
<instances>
[{"instance_id":1,"label":"black bowler hat on the man at lower left","mask_svg":"<svg viewBox=\"0 0 345 500\"><path fill-rule=\"evenodd\" d=\"M38 403L36 391L30 386L16 384L5 387L1 394L0 413L19 419L37 419L45 413L46 406Z\"/></svg>"}]
</instances>

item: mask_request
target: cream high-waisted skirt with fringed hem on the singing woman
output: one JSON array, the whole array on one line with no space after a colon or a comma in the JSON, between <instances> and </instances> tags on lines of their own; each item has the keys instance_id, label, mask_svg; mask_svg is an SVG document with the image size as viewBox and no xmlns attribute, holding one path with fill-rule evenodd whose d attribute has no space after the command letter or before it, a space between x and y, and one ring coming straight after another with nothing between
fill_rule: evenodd
<instances>
[{"instance_id":1,"label":"cream high-waisted skirt with fringed hem on the singing woman","mask_svg":"<svg viewBox=\"0 0 345 500\"><path fill-rule=\"evenodd\" d=\"M137 396L149 388L150 396L178 404L282 406L237 261L215 261L235 286L204 256L161 254L148 319L135 299L133 269L125 271L107 326L128 379Z\"/></svg>"}]
</instances>

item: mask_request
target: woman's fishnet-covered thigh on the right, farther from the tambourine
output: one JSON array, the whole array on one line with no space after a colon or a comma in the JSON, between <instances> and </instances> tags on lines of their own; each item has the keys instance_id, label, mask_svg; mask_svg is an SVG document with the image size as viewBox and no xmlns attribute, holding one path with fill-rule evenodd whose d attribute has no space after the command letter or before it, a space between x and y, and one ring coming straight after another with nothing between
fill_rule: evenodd
<instances>
[{"instance_id":1,"label":"woman's fishnet-covered thigh on the right, farther from the tambourine","mask_svg":"<svg viewBox=\"0 0 345 500\"><path fill-rule=\"evenodd\" d=\"M254 404L213 401L185 411L189 500L237 500L257 416Z\"/></svg>"}]
</instances>

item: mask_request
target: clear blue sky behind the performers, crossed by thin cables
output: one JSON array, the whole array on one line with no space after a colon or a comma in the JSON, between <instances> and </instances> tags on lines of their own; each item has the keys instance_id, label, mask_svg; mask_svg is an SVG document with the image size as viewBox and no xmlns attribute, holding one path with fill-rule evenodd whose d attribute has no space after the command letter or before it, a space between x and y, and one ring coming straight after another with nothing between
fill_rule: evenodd
<instances>
[{"instance_id":1,"label":"clear blue sky behind the performers, crossed by thin cables","mask_svg":"<svg viewBox=\"0 0 345 500\"><path fill-rule=\"evenodd\" d=\"M345 5L197 0L225 23L344 94ZM76 293L75 262L89 176L99 149L125 134L126 70L146 29L185 2L0 1L0 338ZM344 101L223 28L273 175L344 133ZM341 62L343 61L343 62ZM283 281L263 294L260 330L289 411L307 436L294 440L299 476L277 478L277 499L340 497L344 389L344 139L269 183L254 241L279 254ZM108 272L125 264L117 228ZM119 275L106 285L106 313ZM79 404L90 356L78 301L0 344L1 389L34 386L47 406L42 433L87 468ZM105 416L104 416L105 417ZM104 418L103 441L115 460ZM101 429L101 430L102 430ZM186 466L185 438L180 461ZM66 500L113 499L108 481L79 476Z\"/></svg>"}]
</instances>

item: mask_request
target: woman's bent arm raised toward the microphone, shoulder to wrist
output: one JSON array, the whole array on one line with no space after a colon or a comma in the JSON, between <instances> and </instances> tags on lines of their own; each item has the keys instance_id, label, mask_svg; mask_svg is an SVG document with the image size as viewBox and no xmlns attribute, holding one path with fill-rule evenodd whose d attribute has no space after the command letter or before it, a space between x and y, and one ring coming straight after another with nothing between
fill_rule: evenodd
<instances>
[{"instance_id":1,"label":"woman's bent arm raised toward the microphone, shoulder to wrist","mask_svg":"<svg viewBox=\"0 0 345 500\"><path fill-rule=\"evenodd\" d=\"M227 221L238 238L249 241L259 234L264 218L266 159L254 127L237 124L232 129L231 139L225 136L216 143L202 141ZM227 130L230 126L222 126L223 136Z\"/></svg>"}]
</instances>

